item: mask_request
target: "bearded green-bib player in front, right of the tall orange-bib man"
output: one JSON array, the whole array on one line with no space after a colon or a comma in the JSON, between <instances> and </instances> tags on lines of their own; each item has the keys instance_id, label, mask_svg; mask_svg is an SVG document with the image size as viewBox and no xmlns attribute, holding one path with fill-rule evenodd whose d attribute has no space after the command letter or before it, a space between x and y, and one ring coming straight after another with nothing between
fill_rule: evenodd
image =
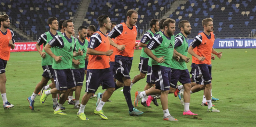
<instances>
[{"instance_id":1,"label":"bearded green-bib player in front, right of the tall orange-bib man","mask_svg":"<svg viewBox=\"0 0 256 127\"><path fill-rule=\"evenodd\" d=\"M156 83L156 89L161 90L161 104L164 113L163 120L178 121L173 118L168 110L168 93L170 90L171 69L170 65L174 49L175 20L166 19L163 23L164 32L156 34L145 48L145 53L152 58L152 80ZM160 52L161 51L161 52ZM135 102L146 93L136 92Z\"/></svg>"}]
</instances>

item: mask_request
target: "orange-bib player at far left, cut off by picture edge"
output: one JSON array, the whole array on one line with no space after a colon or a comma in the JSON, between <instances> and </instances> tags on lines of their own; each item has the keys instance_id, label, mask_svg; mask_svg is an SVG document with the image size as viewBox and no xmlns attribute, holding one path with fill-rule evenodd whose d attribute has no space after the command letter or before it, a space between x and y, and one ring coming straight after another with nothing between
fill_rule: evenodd
<instances>
[{"instance_id":1,"label":"orange-bib player at far left, cut off by picture edge","mask_svg":"<svg viewBox=\"0 0 256 127\"><path fill-rule=\"evenodd\" d=\"M6 75L5 67L7 61L10 58L10 50L15 48L15 40L13 31L7 29L10 27L10 19L8 15L0 15L0 92L3 99L3 108L9 109L13 108L14 105L11 105L6 97Z\"/></svg>"}]
</instances>

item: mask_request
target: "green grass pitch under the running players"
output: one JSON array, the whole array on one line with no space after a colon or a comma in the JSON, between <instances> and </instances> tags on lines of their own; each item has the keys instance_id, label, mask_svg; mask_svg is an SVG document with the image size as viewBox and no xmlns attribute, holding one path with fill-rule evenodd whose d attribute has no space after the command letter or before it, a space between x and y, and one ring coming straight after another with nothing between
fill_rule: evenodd
<instances>
[{"instance_id":1,"label":"green grass pitch under the running players","mask_svg":"<svg viewBox=\"0 0 256 127\"><path fill-rule=\"evenodd\" d=\"M78 109L64 103L65 113L68 115L54 115L52 109L52 97L49 96L44 105L41 105L38 96L34 103L34 110L30 110L26 100L31 96L36 84L41 80L42 67L38 52L11 53L6 67L7 99L14 105L12 109L0 109L0 127L64 127L64 126L93 126L93 127L252 127L256 126L255 93L256 93L256 50L255 49L216 49L223 52L221 59L212 61L212 94L220 100L213 102L220 110L207 112L207 107L201 106L203 91L191 94L190 110L198 116L183 116L184 107L180 105L178 98L169 94L170 114L179 121L163 121L163 111L160 99L159 107L152 103L152 107L138 105L137 109L144 112L142 116L129 116L128 107L120 89L115 91L110 98L112 102L106 102L103 107L108 120L101 120L93 114L96 99L90 99L85 107L85 114L90 119L82 121L76 113ZM140 50L134 52L134 60L130 72L131 78L139 74L138 64ZM191 55L188 55L191 57ZM188 64L190 71L191 62ZM133 85L131 97L134 100L135 91L143 91L146 79L142 79ZM85 85L85 81L84 81ZM85 93L82 88L80 101ZM98 92L104 90L99 87ZM73 96L74 97L74 96Z\"/></svg>"}]
</instances>

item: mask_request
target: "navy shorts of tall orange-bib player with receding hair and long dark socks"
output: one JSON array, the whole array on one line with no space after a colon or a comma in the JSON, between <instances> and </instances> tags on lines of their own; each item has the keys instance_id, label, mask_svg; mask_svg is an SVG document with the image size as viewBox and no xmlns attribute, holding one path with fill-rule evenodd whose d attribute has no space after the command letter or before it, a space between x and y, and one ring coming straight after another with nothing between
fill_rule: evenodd
<instances>
[{"instance_id":1,"label":"navy shorts of tall orange-bib player with receding hair and long dark socks","mask_svg":"<svg viewBox=\"0 0 256 127\"><path fill-rule=\"evenodd\" d=\"M123 77L125 79L131 79L131 76L129 75L132 67L132 60L125 60L125 59L119 59L115 60L116 63L116 73L115 78L123 83Z\"/></svg>"}]
</instances>

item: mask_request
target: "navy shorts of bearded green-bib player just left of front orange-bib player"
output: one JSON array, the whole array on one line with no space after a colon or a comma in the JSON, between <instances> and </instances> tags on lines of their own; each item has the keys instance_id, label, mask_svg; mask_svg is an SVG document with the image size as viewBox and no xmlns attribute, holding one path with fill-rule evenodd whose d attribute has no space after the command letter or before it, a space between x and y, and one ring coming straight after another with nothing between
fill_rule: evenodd
<instances>
[{"instance_id":1,"label":"navy shorts of bearded green-bib player just left of front orange-bib player","mask_svg":"<svg viewBox=\"0 0 256 127\"><path fill-rule=\"evenodd\" d=\"M83 85L84 82L84 68L81 69L71 69L73 76L73 83L75 86Z\"/></svg>"}]
</instances>

